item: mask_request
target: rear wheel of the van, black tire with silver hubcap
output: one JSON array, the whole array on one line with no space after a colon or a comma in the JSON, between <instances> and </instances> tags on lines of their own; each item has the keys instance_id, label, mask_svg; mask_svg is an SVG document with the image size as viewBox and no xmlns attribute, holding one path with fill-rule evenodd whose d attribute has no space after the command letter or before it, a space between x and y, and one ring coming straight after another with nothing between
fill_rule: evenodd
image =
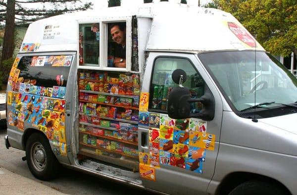
<instances>
[{"instance_id":1,"label":"rear wheel of the van, black tire with silver hubcap","mask_svg":"<svg viewBox=\"0 0 297 195\"><path fill-rule=\"evenodd\" d=\"M58 176L60 164L49 140L41 133L34 133L27 140L26 157L28 167L37 179L47 181Z\"/></svg>"}]
</instances>

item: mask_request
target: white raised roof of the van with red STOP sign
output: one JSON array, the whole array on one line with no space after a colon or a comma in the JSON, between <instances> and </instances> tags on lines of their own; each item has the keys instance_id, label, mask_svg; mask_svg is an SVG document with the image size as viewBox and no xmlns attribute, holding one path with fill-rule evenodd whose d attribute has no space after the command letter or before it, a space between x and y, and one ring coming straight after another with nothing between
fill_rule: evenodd
<instances>
[{"instance_id":1,"label":"white raised roof of the van with red STOP sign","mask_svg":"<svg viewBox=\"0 0 297 195\"><path fill-rule=\"evenodd\" d=\"M38 51L77 50L78 22L120 21L132 16L151 18L146 50L201 52L264 50L230 13L187 4L161 1L135 6L106 7L67 13L30 24L23 44L39 43ZM53 25L54 39L45 37ZM20 50L21 51L21 50Z\"/></svg>"}]
</instances>

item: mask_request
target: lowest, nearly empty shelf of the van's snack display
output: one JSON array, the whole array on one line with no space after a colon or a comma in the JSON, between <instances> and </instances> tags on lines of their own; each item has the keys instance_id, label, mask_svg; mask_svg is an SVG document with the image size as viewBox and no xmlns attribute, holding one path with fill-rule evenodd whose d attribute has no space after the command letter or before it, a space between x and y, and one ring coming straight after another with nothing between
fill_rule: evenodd
<instances>
[{"instance_id":1,"label":"lowest, nearly empty shelf of the van's snack display","mask_svg":"<svg viewBox=\"0 0 297 195\"><path fill-rule=\"evenodd\" d=\"M135 158L116 158L112 156L107 156L107 155L100 155L96 153L93 149L90 148L80 148L79 153L85 156L89 156L98 160L102 160L105 162L109 162L112 164L116 164L118 166L126 167L128 169L133 170L134 172L139 171L139 163L136 161Z\"/></svg>"}]
</instances>

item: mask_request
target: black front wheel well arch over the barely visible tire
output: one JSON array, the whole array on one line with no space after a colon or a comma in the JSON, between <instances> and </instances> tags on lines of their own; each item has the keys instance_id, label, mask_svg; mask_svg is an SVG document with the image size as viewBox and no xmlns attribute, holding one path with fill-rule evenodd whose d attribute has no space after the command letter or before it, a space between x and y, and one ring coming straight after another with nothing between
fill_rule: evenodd
<instances>
[{"instance_id":1,"label":"black front wheel well arch over the barely visible tire","mask_svg":"<svg viewBox=\"0 0 297 195\"><path fill-rule=\"evenodd\" d=\"M227 175L223 181L220 183L216 195L228 195L235 187L238 185L247 182L247 181L264 181L268 182L269 184L277 185L281 188L284 192L288 195L291 194L290 191L279 181L266 177L259 174L248 173L248 172L235 172Z\"/></svg>"}]
</instances>

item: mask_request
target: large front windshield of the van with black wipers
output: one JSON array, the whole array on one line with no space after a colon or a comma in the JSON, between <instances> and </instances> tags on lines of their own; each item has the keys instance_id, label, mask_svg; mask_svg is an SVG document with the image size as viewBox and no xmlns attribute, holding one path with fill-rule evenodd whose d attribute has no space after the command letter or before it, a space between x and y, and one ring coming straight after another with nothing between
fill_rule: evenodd
<instances>
[{"instance_id":1,"label":"large front windshield of the van with black wipers","mask_svg":"<svg viewBox=\"0 0 297 195\"><path fill-rule=\"evenodd\" d=\"M198 56L237 113L280 108L285 106L281 104L297 102L297 79L269 53L219 51ZM260 106L247 109L255 104Z\"/></svg>"}]
</instances>

